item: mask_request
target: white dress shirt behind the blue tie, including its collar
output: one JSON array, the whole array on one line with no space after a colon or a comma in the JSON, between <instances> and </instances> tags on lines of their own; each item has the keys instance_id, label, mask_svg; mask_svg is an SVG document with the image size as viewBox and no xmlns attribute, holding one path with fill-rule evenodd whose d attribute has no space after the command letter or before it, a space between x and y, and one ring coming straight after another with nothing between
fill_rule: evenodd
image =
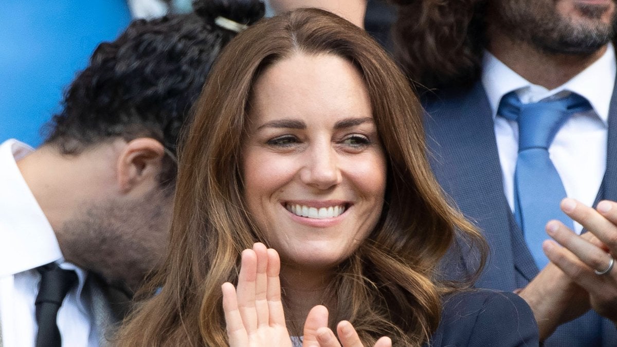
<instances>
[{"instance_id":1,"label":"white dress shirt behind the blue tie, including its collar","mask_svg":"<svg viewBox=\"0 0 617 347\"><path fill-rule=\"evenodd\" d=\"M608 107L617 71L612 44L600 59L563 85L547 90L534 85L511 70L489 52L482 61L482 85L495 120L495 138L503 173L503 190L514 211L514 172L518 155L518 125L497 116L504 94L516 91L521 102L563 98L569 93L584 96L592 110L572 115L549 147L550 159L561 177L566 194L592 206L602 183L607 162ZM574 224L580 233L582 226Z\"/></svg>"}]
</instances>

